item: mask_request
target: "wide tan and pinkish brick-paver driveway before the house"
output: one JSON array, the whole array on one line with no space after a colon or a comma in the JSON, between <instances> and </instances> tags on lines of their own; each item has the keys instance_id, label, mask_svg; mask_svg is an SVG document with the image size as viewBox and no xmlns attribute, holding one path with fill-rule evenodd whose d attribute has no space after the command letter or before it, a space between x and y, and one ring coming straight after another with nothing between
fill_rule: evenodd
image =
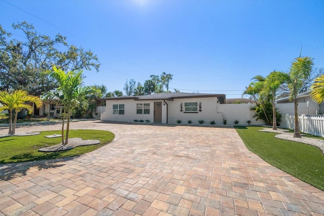
<instances>
[{"instance_id":1,"label":"wide tan and pinkish brick-paver driveway before the house","mask_svg":"<svg viewBox=\"0 0 324 216\"><path fill-rule=\"evenodd\" d=\"M65 161L1 165L2 214L324 214L322 191L248 151L233 128L72 122L77 128L112 131L116 138Z\"/></svg>"}]
</instances>

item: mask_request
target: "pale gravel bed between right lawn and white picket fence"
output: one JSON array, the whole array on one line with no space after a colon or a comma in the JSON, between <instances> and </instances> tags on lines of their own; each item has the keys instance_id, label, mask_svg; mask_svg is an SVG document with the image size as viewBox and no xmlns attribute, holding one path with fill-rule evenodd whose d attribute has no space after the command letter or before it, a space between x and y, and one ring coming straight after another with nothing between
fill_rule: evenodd
<instances>
[{"instance_id":1,"label":"pale gravel bed between right lawn and white picket fence","mask_svg":"<svg viewBox=\"0 0 324 216\"><path fill-rule=\"evenodd\" d=\"M279 128L277 130L273 130L272 128L263 128L260 131L278 133L274 137L282 139L282 140L290 140L290 141L295 141L295 142L299 142L299 143L305 143L305 144L308 144L308 145L316 146L320 150L322 150L322 152L324 153L324 140L315 139L315 138L308 138L308 137L294 138L293 133L285 133L285 132L288 132L288 130L279 129Z\"/></svg>"}]
</instances>

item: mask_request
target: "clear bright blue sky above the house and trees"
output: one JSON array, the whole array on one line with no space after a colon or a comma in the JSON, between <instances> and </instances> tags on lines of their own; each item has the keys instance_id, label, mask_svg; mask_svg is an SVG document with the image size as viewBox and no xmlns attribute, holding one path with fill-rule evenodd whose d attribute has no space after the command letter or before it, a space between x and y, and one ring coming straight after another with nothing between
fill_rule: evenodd
<instances>
[{"instance_id":1,"label":"clear bright blue sky above the house and trees","mask_svg":"<svg viewBox=\"0 0 324 216\"><path fill-rule=\"evenodd\" d=\"M85 84L108 91L166 72L171 91L240 98L253 76L288 71L302 46L302 56L324 67L321 0L0 0L4 29L15 32L11 25L22 21L92 50L102 65L84 72Z\"/></svg>"}]
</instances>

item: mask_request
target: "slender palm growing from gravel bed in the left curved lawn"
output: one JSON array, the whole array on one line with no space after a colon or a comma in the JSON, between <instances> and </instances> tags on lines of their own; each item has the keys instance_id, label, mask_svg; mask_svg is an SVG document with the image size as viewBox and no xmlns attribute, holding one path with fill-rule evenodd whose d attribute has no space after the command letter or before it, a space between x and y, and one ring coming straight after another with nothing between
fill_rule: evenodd
<instances>
[{"instance_id":1,"label":"slender palm growing from gravel bed in the left curved lawn","mask_svg":"<svg viewBox=\"0 0 324 216\"><path fill-rule=\"evenodd\" d=\"M50 76L55 78L58 82L59 88L56 90L56 96L63 104L63 123L62 123L62 144L68 144L69 137L69 126L70 126L70 116L72 112L77 107L87 106L86 96L91 94L93 88L91 87L80 87L82 84L82 70L79 71L69 71L65 73L61 69L53 66L53 71L48 71ZM64 142L64 121L67 118L66 123L66 136Z\"/></svg>"}]
</instances>

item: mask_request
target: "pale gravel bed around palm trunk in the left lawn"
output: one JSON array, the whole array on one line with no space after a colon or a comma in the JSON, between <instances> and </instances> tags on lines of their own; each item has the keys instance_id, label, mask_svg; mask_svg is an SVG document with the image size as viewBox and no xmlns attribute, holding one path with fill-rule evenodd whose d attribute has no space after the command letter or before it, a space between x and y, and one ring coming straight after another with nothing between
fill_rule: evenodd
<instances>
[{"instance_id":1,"label":"pale gravel bed around palm trunk in the left lawn","mask_svg":"<svg viewBox=\"0 0 324 216\"><path fill-rule=\"evenodd\" d=\"M81 138L71 138L68 141L67 145L56 145L56 146L49 146L45 148L41 148L38 151L42 152L54 152L54 151L64 151L68 149L73 149L78 146L89 146L89 145L96 145L99 144L100 140L82 140Z\"/></svg>"}]
</instances>

